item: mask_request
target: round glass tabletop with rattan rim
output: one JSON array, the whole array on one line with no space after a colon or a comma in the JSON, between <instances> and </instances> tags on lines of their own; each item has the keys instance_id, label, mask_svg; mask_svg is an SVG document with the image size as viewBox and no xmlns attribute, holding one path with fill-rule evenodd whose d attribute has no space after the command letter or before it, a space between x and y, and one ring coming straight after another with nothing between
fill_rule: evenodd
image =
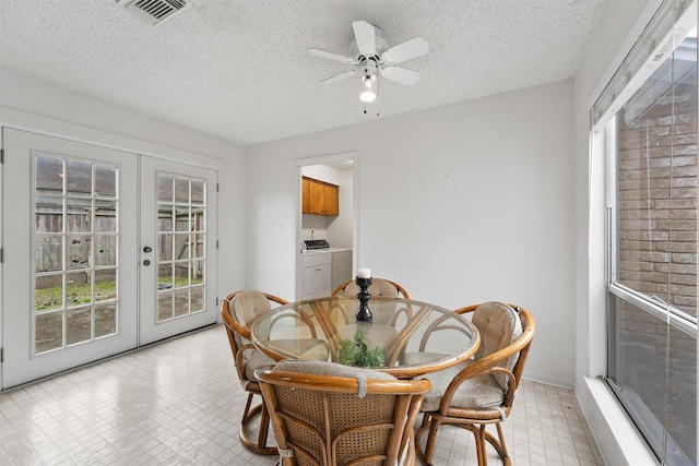
<instances>
[{"instance_id":1,"label":"round glass tabletop with rattan rim","mask_svg":"<svg viewBox=\"0 0 699 466\"><path fill-rule=\"evenodd\" d=\"M254 321L252 343L275 360L351 363L401 379L465 361L481 343L469 319L439 306L384 297L371 298L368 306L370 322L356 320L359 300L354 297L289 302ZM366 354L356 359L362 347Z\"/></svg>"}]
</instances>

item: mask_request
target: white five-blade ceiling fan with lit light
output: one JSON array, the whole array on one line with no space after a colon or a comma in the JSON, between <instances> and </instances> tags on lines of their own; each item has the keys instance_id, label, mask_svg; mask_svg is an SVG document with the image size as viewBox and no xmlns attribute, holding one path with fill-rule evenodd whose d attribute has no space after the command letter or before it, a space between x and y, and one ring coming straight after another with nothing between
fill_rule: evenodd
<instances>
[{"instance_id":1,"label":"white five-blade ceiling fan with lit light","mask_svg":"<svg viewBox=\"0 0 699 466\"><path fill-rule=\"evenodd\" d=\"M366 21L352 23L355 40L351 44L352 56L334 53L319 48L309 48L308 52L317 57L352 64L354 70L327 77L321 83L336 83L352 76L362 80L363 92L359 98L364 101L374 101L378 89L378 76L408 86L419 82L419 71L396 67L407 60L422 57L429 50L429 44L420 36L413 37L396 46L390 47L381 36L381 31Z\"/></svg>"}]
</instances>

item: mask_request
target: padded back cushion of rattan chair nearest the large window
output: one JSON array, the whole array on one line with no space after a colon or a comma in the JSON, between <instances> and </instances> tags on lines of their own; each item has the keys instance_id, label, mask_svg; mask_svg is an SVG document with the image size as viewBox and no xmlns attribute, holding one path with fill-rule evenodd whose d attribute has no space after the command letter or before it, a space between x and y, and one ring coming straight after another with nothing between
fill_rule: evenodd
<instances>
[{"instance_id":1,"label":"padded back cushion of rattan chair nearest the large window","mask_svg":"<svg viewBox=\"0 0 699 466\"><path fill-rule=\"evenodd\" d=\"M502 302L485 302L473 313L473 324L481 333L481 347L475 354L476 359L484 358L512 344L522 336L522 322L519 312ZM497 366L512 370L519 354L510 356ZM509 379L503 374L496 374L495 379L502 390L508 389Z\"/></svg>"}]
</instances>

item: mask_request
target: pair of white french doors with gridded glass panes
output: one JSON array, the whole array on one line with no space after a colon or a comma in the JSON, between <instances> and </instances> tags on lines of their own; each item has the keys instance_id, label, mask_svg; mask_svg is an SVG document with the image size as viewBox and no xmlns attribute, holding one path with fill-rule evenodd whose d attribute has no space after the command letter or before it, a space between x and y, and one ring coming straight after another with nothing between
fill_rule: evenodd
<instances>
[{"instance_id":1,"label":"pair of white french doors with gridded glass panes","mask_svg":"<svg viewBox=\"0 0 699 466\"><path fill-rule=\"evenodd\" d=\"M2 387L216 321L214 170L2 136Z\"/></svg>"}]
</instances>

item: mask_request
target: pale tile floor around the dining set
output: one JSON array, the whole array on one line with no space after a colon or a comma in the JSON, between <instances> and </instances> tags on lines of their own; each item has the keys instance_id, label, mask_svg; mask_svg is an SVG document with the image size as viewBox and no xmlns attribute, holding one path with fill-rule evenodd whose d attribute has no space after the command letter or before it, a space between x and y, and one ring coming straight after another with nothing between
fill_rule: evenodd
<instances>
[{"instance_id":1,"label":"pale tile floor around the dining set","mask_svg":"<svg viewBox=\"0 0 699 466\"><path fill-rule=\"evenodd\" d=\"M0 394L0 465L274 465L238 442L246 396L220 325ZM602 465L572 391L524 382L514 465ZM501 464L494 451L489 464ZM475 465L443 428L435 465Z\"/></svg>"}]
</instances>

